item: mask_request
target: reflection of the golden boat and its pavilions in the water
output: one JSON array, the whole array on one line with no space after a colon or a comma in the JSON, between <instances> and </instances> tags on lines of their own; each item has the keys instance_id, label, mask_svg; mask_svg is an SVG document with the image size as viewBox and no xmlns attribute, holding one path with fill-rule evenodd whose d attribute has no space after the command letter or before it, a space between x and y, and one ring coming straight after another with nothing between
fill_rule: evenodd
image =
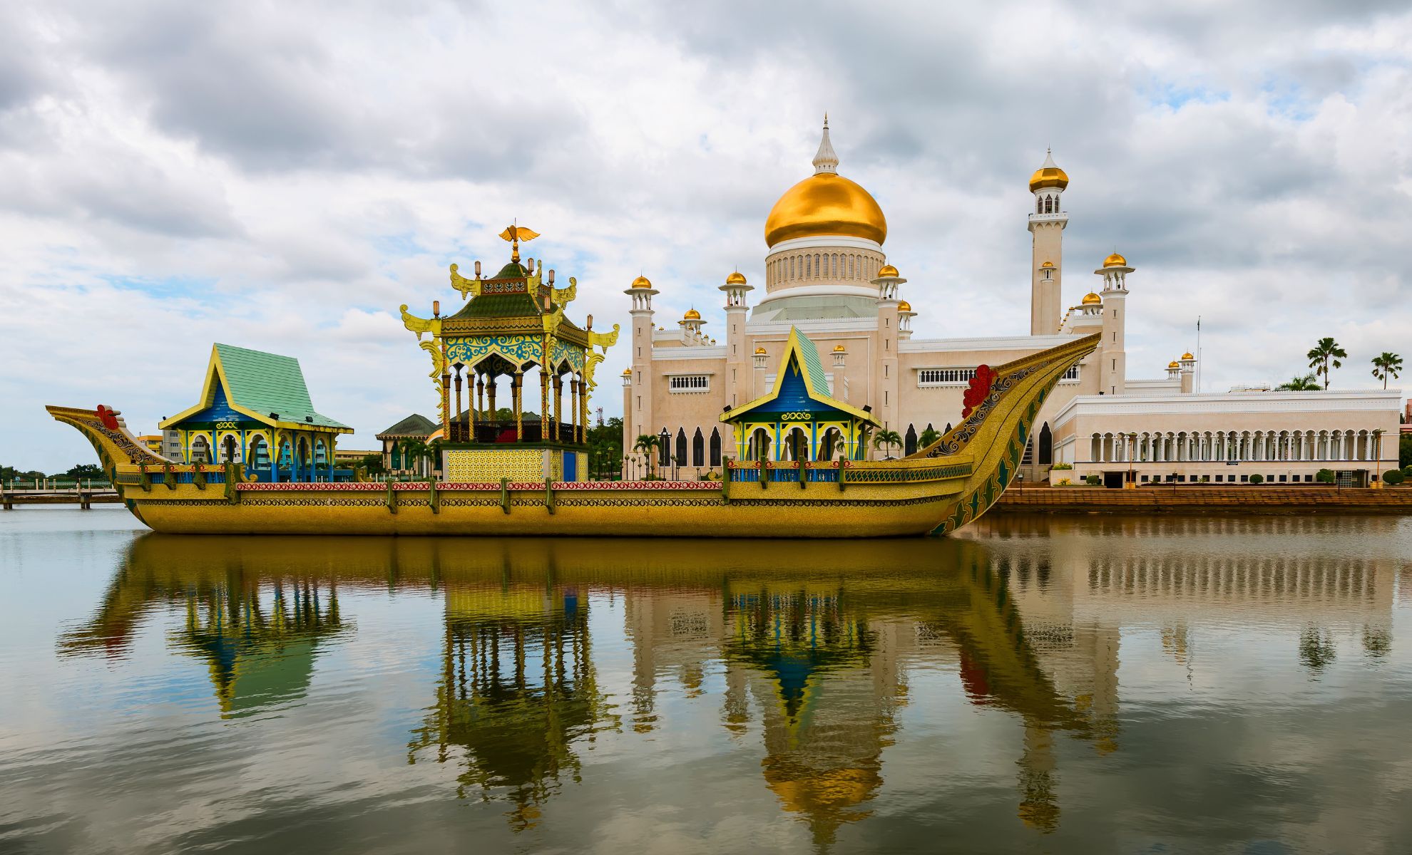
<instances>
[{"instance_id":1,"label":"reflection of the golden boat and its pavilions in the water","mask_svg":"<svg viewBox=\"0 0 1412 855\"><path fill-rule=\"evenodd\" d=\"M148 611L185 607L172 646L212 663L222 710L239 715L308 687L313 643L350 632L354 615L345 612L360 593L435 590L445 608L441 667L407 756L456 765L462 796L507 801L514 827L534 825L563 783L586 775L585 745L624 732L624 722L644 735L662 727L654 698L664 680L699 698L703 674L724 669L722 727L733 738L760 732L764 786L819 842L868 815L909 703L909 665L940 655L959 663L970 703L1024 721L1021 811L1056 821L1052 734L1089 738L1094 725L1046 673L984 546L676 546L145 535L95 618L61 649L120 652ZM631 697L617 708L589 632L590 594L610 591L623 600L634 650ZM306 615L299 626L294 612ZM280 621L288 628L277 631ZM268 667L281 655L285 667ZM265 687L258 674L275 672L285 684Z\"/></svg>"}]
</instances>

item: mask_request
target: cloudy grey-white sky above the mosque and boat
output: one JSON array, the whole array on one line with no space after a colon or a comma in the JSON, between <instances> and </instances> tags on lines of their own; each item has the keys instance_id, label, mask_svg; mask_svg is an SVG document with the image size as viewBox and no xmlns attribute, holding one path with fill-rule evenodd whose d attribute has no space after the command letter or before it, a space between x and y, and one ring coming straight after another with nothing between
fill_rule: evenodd
<instances>
[{"instance_id":1,"label":"cloudy grey-white sky above the mosque and boat","mask_svg":"<svg viewBox=\"0 0 1412 855\"><path fill-rule=\"evenodd\" d=\"M640 272L662 320L719 326L826 110L918 337L1028 332L1025 182L1053 147L1065 301L1114 248L1138 268L1132 375L1195 348L1197 316L1207 389L1300 372L1320 336L1348 350L1339 385L1412 363L1405 1L21 0L0 4L0 463L92 457L44 404L152 430L212 341L297 356L357 428L342 444L373 447L435 408L398 305L459 303L448 265L501 262L511 219L596 329Z\"/></svg>"}]
</instances>

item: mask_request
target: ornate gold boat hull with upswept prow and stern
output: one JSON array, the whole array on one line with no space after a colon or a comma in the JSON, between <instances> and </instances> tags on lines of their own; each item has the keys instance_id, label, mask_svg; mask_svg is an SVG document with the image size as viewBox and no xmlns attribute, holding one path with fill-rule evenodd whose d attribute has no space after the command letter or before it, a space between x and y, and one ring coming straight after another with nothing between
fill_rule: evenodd
<instances>
[{"instance_id":1,"label":"ornate gold boat hull with upswept prow and stern","mask_svg":"<svg viewBox=\"0 0 1412 855\"><path fill-rule=\"evenodd\" d=\"M49 406L93 443L127 508L189 535L891 538L949 533L1014 478L1039 406L1097 336L1000 365L973 412L902 460L834 481L251 484L157 457L97 411ZM775 470L777 473L779 470Z\"/></svg>"}]
</instances>

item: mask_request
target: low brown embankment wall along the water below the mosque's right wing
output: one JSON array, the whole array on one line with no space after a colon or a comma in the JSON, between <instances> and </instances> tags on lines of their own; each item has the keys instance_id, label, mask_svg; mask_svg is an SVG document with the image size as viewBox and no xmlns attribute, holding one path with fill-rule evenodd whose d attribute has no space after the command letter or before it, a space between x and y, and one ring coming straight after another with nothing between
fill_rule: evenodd
<instances>
[{"instance_id":1,"label":"low brown embankment wall along the water below the mosque's right wing","mask_svg":"<svg viewBox=\"0 0 1412 855\"><path fill-rule=\"evenodd\" d=\"M1028 487L1007 490L991 512L1041 514L1412 514L1412 487Z\"/></svg>"}]
</instances>

